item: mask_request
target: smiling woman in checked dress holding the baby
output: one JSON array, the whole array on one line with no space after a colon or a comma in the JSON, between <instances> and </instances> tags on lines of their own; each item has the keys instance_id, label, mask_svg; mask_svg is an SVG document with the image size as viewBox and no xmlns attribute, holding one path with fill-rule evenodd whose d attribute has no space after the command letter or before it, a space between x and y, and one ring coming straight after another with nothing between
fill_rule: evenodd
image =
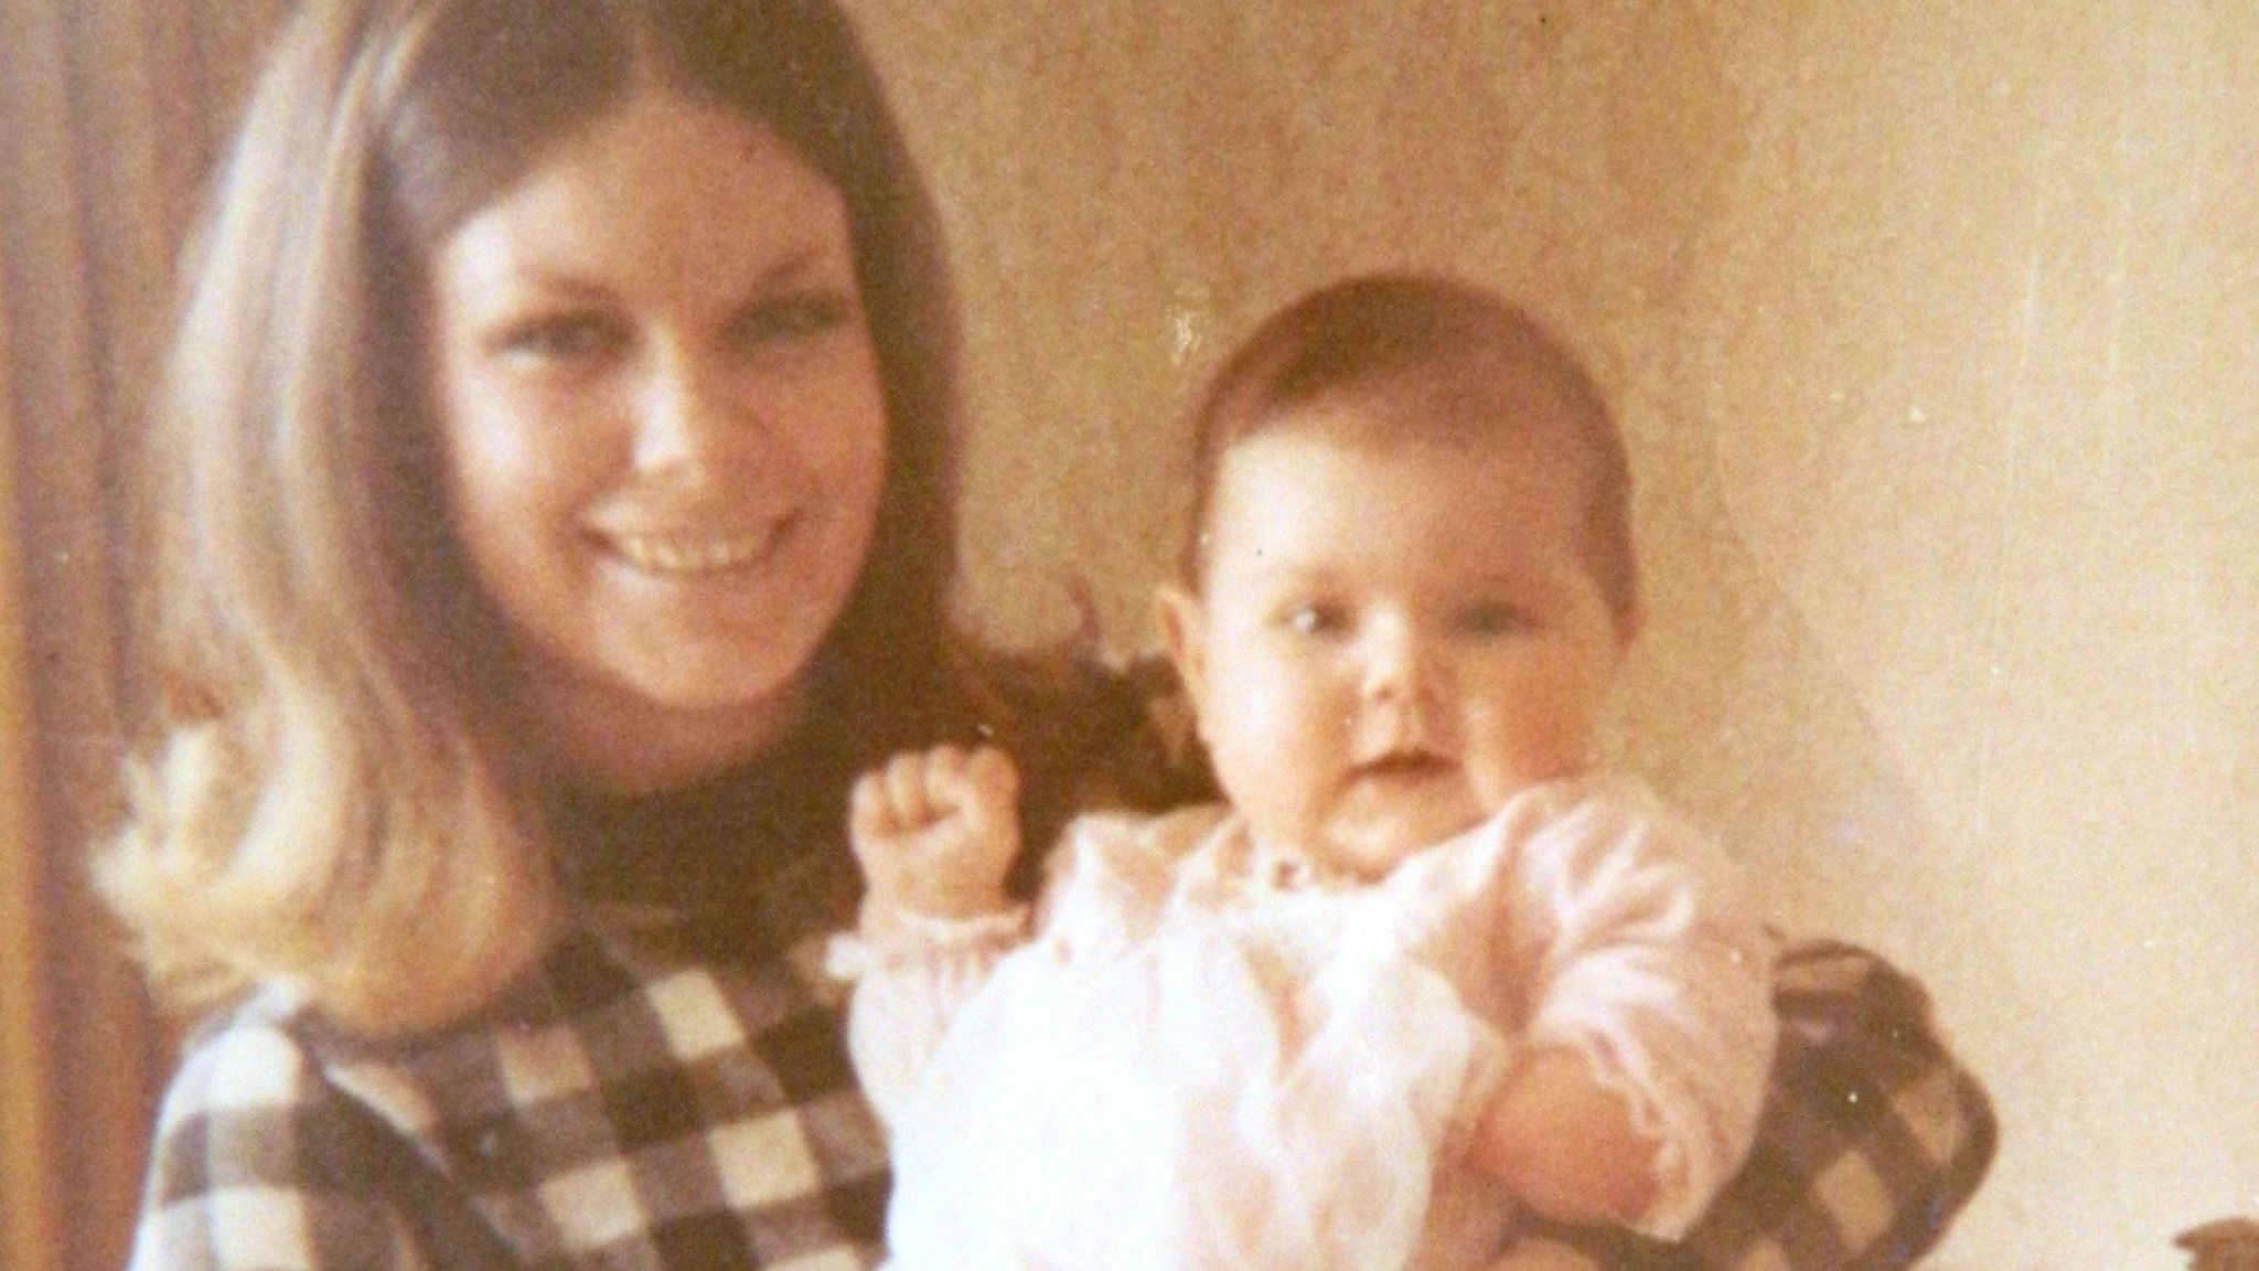
<instances>
[{"instance_id":1,"label":"smiling woman in checked dress holding the baby","mask_svg":"<svg viewBox=\"0 0 2259 1271\"><path fill-rule=\"evenodd\" d=\"M102 880L154 979L226 1009L138 1269L876 1257L883 1142L809 957L856 898L852 773L996 737L1037 841L1204 780L1161 681L951 640L944 278L829 0L298 14L154 436L163 699ZM1911 1027L1882 1058L1959 1081ZM1877 1239L1927 1242L1965 1153L1893 1158L1857 1242L1767 1217L1832 1196L1814 1072L1760 1144L1789 1187L1712 1246L1911 1262Z\"/></svg>"}]
</instances>

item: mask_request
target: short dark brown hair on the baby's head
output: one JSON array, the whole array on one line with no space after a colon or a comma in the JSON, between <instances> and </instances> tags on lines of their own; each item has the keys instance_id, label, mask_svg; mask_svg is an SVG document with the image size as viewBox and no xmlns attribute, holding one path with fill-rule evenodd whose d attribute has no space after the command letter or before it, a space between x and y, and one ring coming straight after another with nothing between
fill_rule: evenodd
<instances>
[{"instance_id":1,"label":"short dark brown hair on the baby's head","mask_svg":"<svg viewBox=\"0 0 2259 1271\"><path fill-rule=\"evenodd\" d=\"M1224 455L1299 409L1358 400L1405 407L1346 412L1358 443L1565 443L1588 479L1586 563L1617 622L1636 611L1631 464L1606 398L1534 317L1437 274L1369 274L1310 292L1265 319L1215 373L1193 414L1188 586L1204 581Z\"/></svg>"}]
</instances>

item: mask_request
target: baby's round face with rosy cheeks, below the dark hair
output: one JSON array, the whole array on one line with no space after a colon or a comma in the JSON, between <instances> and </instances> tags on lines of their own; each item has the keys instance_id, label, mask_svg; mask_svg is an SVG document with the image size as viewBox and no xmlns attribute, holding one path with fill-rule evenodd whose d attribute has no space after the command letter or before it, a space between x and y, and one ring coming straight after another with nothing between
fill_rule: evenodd
<instances>
[{"instance_id":1,"label":"baby's round face with rosy cheeks, below the dark hair","mask_svg":"<svg viewBox=\"0 0 2259 1271\"><path fill-rule=\"evenodd\" d=\"M1378 877L1590 762L1626 633L1559 450L1290 421L1224 455L1204 595L1161 613L1258 841Z\"/></svg>"}]
</instances>

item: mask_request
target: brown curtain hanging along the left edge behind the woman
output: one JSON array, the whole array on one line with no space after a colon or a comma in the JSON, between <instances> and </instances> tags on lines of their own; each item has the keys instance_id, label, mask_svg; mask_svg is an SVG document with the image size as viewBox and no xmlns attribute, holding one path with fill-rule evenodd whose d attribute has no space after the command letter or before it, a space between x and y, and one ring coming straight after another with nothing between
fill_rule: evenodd
<instances>
[{"instance_id":1,"label":"brown curtain hanging along the left edge behind the woman","mask_svg":"<svg viewBox=\"0 0 2259 1271\"><path fill-rule=\"evenodd\" d=\"M0 0L0 1264L124 1260L172 1063L86 887L172 262L280 0Z\"/></svg>"}]
</instances>

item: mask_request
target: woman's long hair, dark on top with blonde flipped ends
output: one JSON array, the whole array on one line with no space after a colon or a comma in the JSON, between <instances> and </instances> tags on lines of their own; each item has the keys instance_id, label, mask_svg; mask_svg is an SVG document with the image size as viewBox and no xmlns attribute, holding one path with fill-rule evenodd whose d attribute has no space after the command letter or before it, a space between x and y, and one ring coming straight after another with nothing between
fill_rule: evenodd
<instances>
[{"instance_id":1,"label":"woman's long hair, dark on top with blonde flipped ends","mask_svg":"<svg viewBox=\"0 0 2259 1271\"><path fill-rule=\"evenodd\" d=\"M492 699L422 389L429 251L630 93L745 113L849 208L888 398L872 556L820 658L872 746L947 678L956 319L831 0L312 0L187 251L142 543L156 701L97 882L183 1006L285 982L366 1031L477 1009L562 898Z\"/></svg>"}]
</instances>

